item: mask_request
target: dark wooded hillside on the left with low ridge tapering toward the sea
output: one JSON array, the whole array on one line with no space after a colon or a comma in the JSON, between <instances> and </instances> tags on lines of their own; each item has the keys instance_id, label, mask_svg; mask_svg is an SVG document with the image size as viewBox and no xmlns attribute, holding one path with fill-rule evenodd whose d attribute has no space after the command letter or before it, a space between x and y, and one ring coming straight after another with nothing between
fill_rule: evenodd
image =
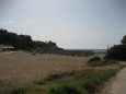
<instances>
[{"instance_id":1,"label":"dark wooded hillside on the left with low ridge tapering toward the sea","mask_svg":"<svg viewBox=\"0 0 126 94\"><path fill-rule=\"evenodd\" d=\"M8 32L7 30L0 30L0 45L14 46L14 48L35 51L39 54L55 54L65 56L90 56L93 55L93 50L67 50L59 48L56 43L33 40L30 35L18 35L15 33Z\"/></svg>"}]
</instances>

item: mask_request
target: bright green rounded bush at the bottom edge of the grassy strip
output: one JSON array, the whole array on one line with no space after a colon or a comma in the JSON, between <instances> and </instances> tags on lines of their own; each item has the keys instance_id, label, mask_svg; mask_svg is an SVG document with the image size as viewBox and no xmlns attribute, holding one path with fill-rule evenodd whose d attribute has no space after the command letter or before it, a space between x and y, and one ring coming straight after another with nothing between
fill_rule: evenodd
<instances>
[{"instance_id":1,"label":"bright green rounded bush at the bottom edge of the grassy strip","mask_svg":"<svg viewBox=\"0 0 126 94\"><path fill-rule=\"evenodd\" d=\"M59 84L46 90L45 94L89 94L82 86L77 84Z\"/></svg>"}]
</instances>

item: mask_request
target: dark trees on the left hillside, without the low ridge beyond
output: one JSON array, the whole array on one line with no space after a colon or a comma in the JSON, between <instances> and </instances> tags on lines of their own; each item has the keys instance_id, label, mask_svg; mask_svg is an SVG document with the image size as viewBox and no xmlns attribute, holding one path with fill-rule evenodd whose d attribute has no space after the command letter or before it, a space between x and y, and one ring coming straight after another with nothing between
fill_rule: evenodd
<instances>
[{"instance_id":1,"label":"dark trees on the left hillside, without the low ridge beyond","mask_svg":"<svg viewBox=\"0 0 126 94\"><path fill-rule=\"evenodd\" d=\"M0 44L14 46L15 49L32 50L38 47L57 47L56 43L33 40L30 35L18 35L16 33L8 32L0 28Z\"/></svg>"}]
</instances>

